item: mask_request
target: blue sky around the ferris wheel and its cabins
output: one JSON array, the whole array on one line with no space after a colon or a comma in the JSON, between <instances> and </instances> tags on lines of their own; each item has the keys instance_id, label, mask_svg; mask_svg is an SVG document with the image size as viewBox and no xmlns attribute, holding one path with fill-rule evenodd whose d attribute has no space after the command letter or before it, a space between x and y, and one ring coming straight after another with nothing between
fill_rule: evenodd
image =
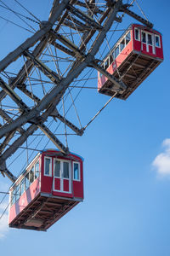
<instances>
[{"instance_id":1,"label":"blue sky around the ferris wheel and its cabins","mask_svg":"<svg viewBox=\"0 0 170 256\"><path fill-rule=\"evenodd\" d=\"M23 1L45 20L52 1L41 2ZM160 4L158 0L139 3L154 28L162 33L165 60L126 102L113 100L82 137L71 137L71 151L85 159L84 201L45 233L8 229L6 212L0 220L4 255L170 254L170 3ZM120 27L127 28L132 22L125 16ZM28 36L29 32L18 28L10 30L8 23L2 21L0 59ZM117 34L115 38L118 37ZM97 73L94 75L97 77ZM96 86L96 80L89 85ZM91 101L94 94L95 111L108 98L98 96L95 91L89 95ZM87 119L94 113L88 104L82 110ZM17 165L10 170L18 173ZM8 179L0 176L0 190L7 191L9 185ZM0 196L1 201L3 195ZM7 204L7 200L3 201L0 212Z\"/></svg>"}]
</instances>

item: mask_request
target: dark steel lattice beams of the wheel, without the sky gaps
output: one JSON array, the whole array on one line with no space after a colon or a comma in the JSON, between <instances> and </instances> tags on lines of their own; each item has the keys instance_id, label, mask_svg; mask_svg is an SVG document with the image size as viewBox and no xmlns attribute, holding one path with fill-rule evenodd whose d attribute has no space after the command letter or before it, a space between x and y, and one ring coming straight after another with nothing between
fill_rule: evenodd
<instances>
[{"instance_id":1,"label":"dark steel lattice beams of the wheel, without the sky gaps","mask_svg":"<svg viewBox=\"0 0 170 256\"><path fill-rule=\"evenodd\" d=\"M94 15L86 15L81 10L73 7L73 4L76 3L79 6L87 7L91 9L93 14L100 13L102 14L99 22L96 22L93 19ZM105 39L106 32L111 28L111 24L114 20L121 21L116 17L117 12L123 11L127 13L127 15L133 16L133 18L143 22L144 25L150 26L151 23L147 20L142 19L139 15L135 15L133 12L129 11L128 6L122 5L122 0L117 1L107 1L108 9L106 11L101 11L96 5L91 4L93 1L89 1L89 3L82 3L80 1L54 1L54 6L51 10L51 14L49 16L48 22L42 22L40 26L40 30L37 31L31 38L28 38L24 44L21 44L20 47L14 50L11 54L7 55L3 61L0 61L0 71L4 70L12 61L15 61L20 55L26 55L27 61L25 63L26 67L22 67L20 73L18 73L17 77L10 84L1 84L3 91L0 92L0 98L3 99L7 94L14 100L14 102L19 105L20 109L24 109L25 113L21 114L18 119L11 121L9 124L3 125L0 128L0 137L6 136L6 140L10 138L9 134L15 132L16 130L20 131L22 135L8 148L0 157L0 164L8 158L9 155L13 154L16 149L22 143L26 142L26 138L29 137L37 128L40 128L50 139L54 142L54 144L60 147L60 150L63 152L66 151L67 148L59 142L59 140L54 137L54 134L48 130L48 128L43 125L48 116L53 116L54 111L56 110L56 106L59 104L61 97L64 96L65 90L69 87L71 82L77 78L77 76L82 73L84 68L86 67L94 67L99 70L100 73L103 73L107 79L110 79L113 84L115 84L115 90L118 93L122 93L126 90L126 85L122 83L119 79L114 78L111 74L107 73L102 67L99 67L97 61L94 59L95 54L98 52L100 45L103 43ZM64 15L61 15L65 10ZM70 15L70 13L72 15ZM88 12L90 14L90 12ZM73 15L77 16L77 19L85 22L83 24L81 21L75 19ZM103 21L105 20L105 24ZM55 22L58 22L55 30L52 30L52 26ZM72 21L72 22L71 22ZM75 23L75 24L74 24ZM85 29L83 36L83 44L80 47L77 47L76 44L72 44L70 40L59 35L59 27L61 25L66 26L77 26L79 30ZM91 27L91 30L88 30L88 26ZM89 40L94 36L95 31L98 30L99 34L94 39L94 44L91 46L87 55L85 55L85 45L88 44ZM55 42L55 40L59 40L61 44ZM37 45L33 52L30 51L31 46L37 44L37 42L41 40L39 46ZM59 79L57 73L54 73L51 69L49 69L40 59L38 58L42 54L42 50L45 49L47 44L53 44L56 48L62 50L68 55L71 55L77 58L74 64L71 67L70 72L67 73L66 77L63 79ZM39 47L39 48L38 48ZM67 48L66 48L67 47ZM42 99L31 95L29 90L26 90L25 80L28 73L31 73L32 67L37 67L43 74L45 74L56 86L51 90L46 96ZM23 86L22 86L23 84ZM31 97L35 102L37 102L37 106L35 108L30 109L26 113L27 106L22 104L20 98L14 93L14 88L22 90L27 96ZM11 90L10 90L11 89ZM23 102L24 103L24 102ZM25 104L26 105L26 104ZM43 113L42 113L43 112ZM42 113L42 114L41 114ZM1 114L1 113L0 113ZM3 114L3 113L2 113ZM68 125L73 131L77 133L77 135L82 135L82 129L78 129L77 126L71 124L71 122L61 116L59 113L55 113L56 117L61 120L65 125ZM7 122L9 119L6 119ZM25 125L26 123L31 123L30 127L25 131L21 128L21 125Z\"/></svg>"}]
</instances>

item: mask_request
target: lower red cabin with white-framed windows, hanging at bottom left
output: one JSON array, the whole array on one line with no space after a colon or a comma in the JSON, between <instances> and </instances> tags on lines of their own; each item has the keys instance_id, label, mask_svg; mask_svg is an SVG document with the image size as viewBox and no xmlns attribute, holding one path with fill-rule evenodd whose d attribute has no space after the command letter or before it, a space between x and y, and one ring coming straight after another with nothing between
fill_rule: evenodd
<instances>
[{"instance_id":1,"label":"lower red cabin with white-framed windows, hanging at bottom left","mask_svg":"<svg viewBox=\"0 0 170 256\"><path fill-rule=\"evenodd\" d=\"M47 230L83 200L82 157L48 149L27 166L9 192L9 227Z\"/></svg>"}]
</instances>

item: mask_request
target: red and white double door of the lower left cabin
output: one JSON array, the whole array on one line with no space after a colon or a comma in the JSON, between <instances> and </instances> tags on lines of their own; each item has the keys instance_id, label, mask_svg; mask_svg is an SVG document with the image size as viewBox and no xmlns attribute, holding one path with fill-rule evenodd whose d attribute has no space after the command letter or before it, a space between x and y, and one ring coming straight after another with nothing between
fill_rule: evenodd
<instances>
[{"instance_id":1,"label":"red and white double door of the lower left cabin","mask_svg":"<svg viewBox=\"0 0 170 256\"><path fill-rule=\"evenodd\" d=\"M71 161L54 159L54 191L71 193Z\"/></svg>"}]
</instances>

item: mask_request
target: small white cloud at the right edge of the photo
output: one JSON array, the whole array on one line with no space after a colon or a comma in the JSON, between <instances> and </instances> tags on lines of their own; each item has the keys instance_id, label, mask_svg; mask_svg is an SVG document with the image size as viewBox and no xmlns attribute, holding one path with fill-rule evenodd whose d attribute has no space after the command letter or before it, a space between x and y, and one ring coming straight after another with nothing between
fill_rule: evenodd
<instances>
[{"instance_id":1,"label":"small white cloud at the right edge of the photo","mask_svg":"<svg viewBox=\"0 0 170 256\"><path fill-rule=\"evenodd\" d=\"M164 148L161 154L158 154L152 162L157 174L161 177L170 177L170 138L163 141Z\"/></svg>"}]
</instances>

